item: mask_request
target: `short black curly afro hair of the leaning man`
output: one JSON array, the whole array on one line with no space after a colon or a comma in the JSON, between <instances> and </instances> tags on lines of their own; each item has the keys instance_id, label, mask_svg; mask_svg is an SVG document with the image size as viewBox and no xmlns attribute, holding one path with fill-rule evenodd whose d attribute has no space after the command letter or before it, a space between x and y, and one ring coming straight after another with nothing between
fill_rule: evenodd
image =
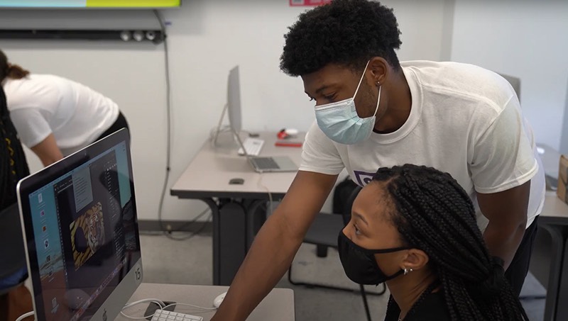
<instances>
[{"instance_id":1,"label":"short black curly afro hair of the leaning man","mask_svg":"<svg viewBox=\"0 0 568 321\"><path fill-rule=\"evenodd\" d=\"M334 0L300 14L284 36L280 69L290 76L334 63L358 69L372 57L400 67L400 30L393 9L377 1Z\"/></svg>"}]
</instances>

